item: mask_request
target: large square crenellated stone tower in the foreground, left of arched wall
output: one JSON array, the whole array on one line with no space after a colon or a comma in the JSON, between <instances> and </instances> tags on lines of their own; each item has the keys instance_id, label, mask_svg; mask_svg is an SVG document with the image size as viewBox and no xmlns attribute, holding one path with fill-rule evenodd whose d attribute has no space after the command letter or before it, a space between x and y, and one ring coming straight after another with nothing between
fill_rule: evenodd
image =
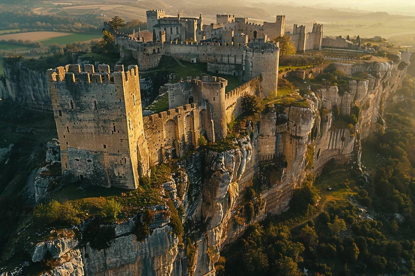
<instances>
[{"instance_id":1,"label":"large square crenellated stone tower in the foreground, left of arched wall","mask_svg":"<svg viewBox=\"0 0 415 276\"><path fill-rule=\"evenodd\" d=\"M62 173L83 186L135 189L149 174L138 67L66 65L47 70Z\"/></svg>"}]
</instances>

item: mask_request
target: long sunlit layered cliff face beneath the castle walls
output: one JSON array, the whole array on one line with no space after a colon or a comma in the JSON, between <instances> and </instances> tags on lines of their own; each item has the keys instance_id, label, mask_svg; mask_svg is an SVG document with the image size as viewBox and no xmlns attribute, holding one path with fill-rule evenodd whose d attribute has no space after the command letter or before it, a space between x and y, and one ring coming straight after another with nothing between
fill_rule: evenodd
<instances>
[{"instance_id":1,"label":"long sunlit layered cliff face beneath the castle walls","mask_svg":"<svg viewBox=\"0 0 415 276\"><path fill-rule=\"evenodd\" d=\"M267 110L249 134L235 139L235 149L194 153L179 161L179 173L164 190L176 206L184 206L183 244L169 226L167 207L155 206L159 215L142 241L134 230L139 218L132 218L111 226L115 238L105 249L81 242L80 235L67 235L69 239L32 245L31 260L22 261L52 256L56 265L45 276L215 275L220 250L239 238L249 223L287 210L293 189L308 173L318 174L331 159L359 167L360 139L382 129L383 106L405 75L401 62L408 63L409 57L335 63L335 70L367 75L351 79L343 93L337 86L322 87L303 95L301 105L285 103ZM359 110L359 118L350 127L340 118L353 110ZM249 193L251 187L256 194ZM82 233L82 226L75 231ZM22 275L16 271L2 270L0 275Z\"/></svg>"}]
</instances>

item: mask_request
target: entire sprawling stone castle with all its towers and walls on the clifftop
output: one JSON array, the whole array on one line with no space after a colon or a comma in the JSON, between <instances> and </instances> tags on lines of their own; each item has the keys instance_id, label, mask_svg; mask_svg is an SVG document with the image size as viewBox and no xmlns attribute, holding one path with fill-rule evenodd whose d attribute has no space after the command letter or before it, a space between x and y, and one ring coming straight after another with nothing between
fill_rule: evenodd
<instances>
[{"instance_id":1,"label":"entire sprawling stone castle with all its towers and walls on the clifftop","mask_svg":"<svg viewBox=\"0 0 415 276\"><path fill-rule=\"evenodd\" d=\"M277 91L279 48L269 38L285 33L285 16L259 25L217 15L216 24L203 25L201 14L146 14L152 31L114 32L121 60L135 58L138 66L125 72L116 65L110 72L108 65L99 65L95 72L93 65L66 65L47 72L62 172L83 185L135 189L151 166L197 149L201 135L208 142L225 139L227 121L242 113L242 95ZM305 26L294 25L290 35L299 51L321 49L320 24L307 35ZM161 55L204 62L208 72L237 76L244 84L228 93L227 80L219 77L167 84L170 109L143 118L138 69L158 66Z\"/></svg>"}]
</instances>

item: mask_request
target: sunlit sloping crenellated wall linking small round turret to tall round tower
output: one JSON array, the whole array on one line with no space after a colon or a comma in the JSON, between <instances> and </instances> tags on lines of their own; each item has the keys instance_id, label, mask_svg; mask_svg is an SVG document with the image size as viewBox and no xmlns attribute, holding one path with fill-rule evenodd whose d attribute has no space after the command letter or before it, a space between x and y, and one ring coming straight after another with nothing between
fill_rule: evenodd
<instances>
[{"instance_id":1,"label":"sunlit sloping crenellated wall linking small round turret to tall round tower","mask_svg":"<svg viewBox=\"0 0 415 276\"><path fill-rule=\"evenodd\" d=\"M237 118L242 114L242 96L248 95L259 95L260 91L260 77L255 77L249 82L242 84L241 86L229 91L225 94L225 104L226 104L226 120L230 122L232 116Z\"/></svg>"}]
</instances>

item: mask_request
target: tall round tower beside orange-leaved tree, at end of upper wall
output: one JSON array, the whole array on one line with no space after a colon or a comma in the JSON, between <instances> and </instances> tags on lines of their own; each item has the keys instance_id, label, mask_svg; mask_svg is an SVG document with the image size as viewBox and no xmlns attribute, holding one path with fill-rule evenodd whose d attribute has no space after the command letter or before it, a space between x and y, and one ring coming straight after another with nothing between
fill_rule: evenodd
<instances>
[{"instance_id":1,"label":"tall round tower beside orange-leaved tree, at end of upper wall","mask_svg":"<svg viewBox=\"0 0 415 276\"><path fill-rule=\"evenodd\" d=\"M244 60L244 81L261 75L263 97L278 88L279 43L248 43Z\"/></svg>"}]
</instances>

